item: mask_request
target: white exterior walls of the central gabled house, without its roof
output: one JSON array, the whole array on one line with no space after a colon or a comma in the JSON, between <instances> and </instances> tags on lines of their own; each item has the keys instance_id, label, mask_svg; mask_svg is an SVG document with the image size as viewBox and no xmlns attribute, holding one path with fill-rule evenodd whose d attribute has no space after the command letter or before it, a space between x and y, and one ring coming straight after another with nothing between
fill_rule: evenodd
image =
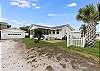
<instances>
[{"instance_id":1,"label":"white exterior walls of the central gabled house, without its roof","mask_svg":"<svg viewBox=\"0 0 100 71\"><path fill-rule=\"evenodd\" d=\"M37 27L37 26L33 25L30 30L34 30L36 28L43 28L43 27ZM44 29L50 29L50 28L44 28ZM53 34L52 30L55 30L55 34ZM59 34L57 34L57 30L59 30ZM62 39L62 37L64 37L65 35L67 35L68 32L71 32L71 29L69 27L65 26L63 28L51 29L51 34L44 35L44 37L45 37L45 39L47 39L48 37ZM30 35L30 38L32 38L32 36L33 36L33 34Z\"/></svg>"}]
</instances>

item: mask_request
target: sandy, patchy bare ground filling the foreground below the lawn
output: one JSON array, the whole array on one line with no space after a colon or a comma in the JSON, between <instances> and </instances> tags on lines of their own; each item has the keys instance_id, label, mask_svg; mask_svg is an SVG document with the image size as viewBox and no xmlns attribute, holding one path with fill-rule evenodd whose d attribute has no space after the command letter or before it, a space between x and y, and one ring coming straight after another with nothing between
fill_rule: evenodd
<instances>
[{"instance_id":1,"label":"sandy, patchy bare ground filling the foreground below the lawn","mask_svg":"<svg viewBox=\"0 0 100 71\"><path fill-rule=\"evenodd\" d=\"M99 71L93 61L55 47L25 49L18 41L2 40L0 71Z\"/></svg>"}]
</instances>

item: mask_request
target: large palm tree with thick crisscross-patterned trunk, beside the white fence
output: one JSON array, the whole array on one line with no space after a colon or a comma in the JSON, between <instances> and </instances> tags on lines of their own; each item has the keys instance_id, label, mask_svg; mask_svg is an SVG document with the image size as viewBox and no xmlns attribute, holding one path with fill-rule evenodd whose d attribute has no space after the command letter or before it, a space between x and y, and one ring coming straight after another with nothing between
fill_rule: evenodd
<instances>
[{"instance_id":1,"label":"large palm tree with thick crisscross-patterned trunk, beside the white fence","mask_svg":"<svg viewBox=\"0 0 100 71\"><path fill-rule=\"evenodd\" d=\"M80 8L76 16L78 21L87 23L86 45L93 47L96 42L96 25L99 21L99 11L93 4Z\"/></svg>"}]
</instances>

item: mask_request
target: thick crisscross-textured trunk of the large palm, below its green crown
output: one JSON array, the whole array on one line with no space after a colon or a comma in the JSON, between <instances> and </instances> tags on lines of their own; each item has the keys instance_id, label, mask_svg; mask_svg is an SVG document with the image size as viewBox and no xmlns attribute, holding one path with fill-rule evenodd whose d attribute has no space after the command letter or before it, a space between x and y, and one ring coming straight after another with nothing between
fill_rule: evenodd
<instances>
[{"instance_id":1,"label":"thick crisscross-textured trunk of the large palm, below its green crown","mask_svg":"<svg viewBox=\"0 0 100 71\"><path fill-rule=\"evenodd\" d=\"M96 24L89 23L87 25L86 46L94 47L96 43Z\"/></svg>"}]
</instances>

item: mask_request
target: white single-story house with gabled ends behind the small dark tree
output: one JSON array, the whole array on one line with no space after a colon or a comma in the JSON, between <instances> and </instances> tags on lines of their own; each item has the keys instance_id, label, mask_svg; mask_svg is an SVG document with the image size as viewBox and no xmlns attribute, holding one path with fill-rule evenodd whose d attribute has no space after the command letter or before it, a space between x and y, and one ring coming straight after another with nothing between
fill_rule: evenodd
<instances>
[{"instance_id":1,"label":"white single-story house with gabled ends behind the small dark tree","mask_svg":"<svg viewBox=\"0 0 100 71\"><path fill-rule=\"evenodd\" d=\"M56 27L47 27L41 25L32 24L30 29L30 38L33 37L34 29L41 28L43 30L43 34L45 39L62 39L68 32L73 31L74 29L70 25L61 25Z\"/></svg>"}]
</instances>

